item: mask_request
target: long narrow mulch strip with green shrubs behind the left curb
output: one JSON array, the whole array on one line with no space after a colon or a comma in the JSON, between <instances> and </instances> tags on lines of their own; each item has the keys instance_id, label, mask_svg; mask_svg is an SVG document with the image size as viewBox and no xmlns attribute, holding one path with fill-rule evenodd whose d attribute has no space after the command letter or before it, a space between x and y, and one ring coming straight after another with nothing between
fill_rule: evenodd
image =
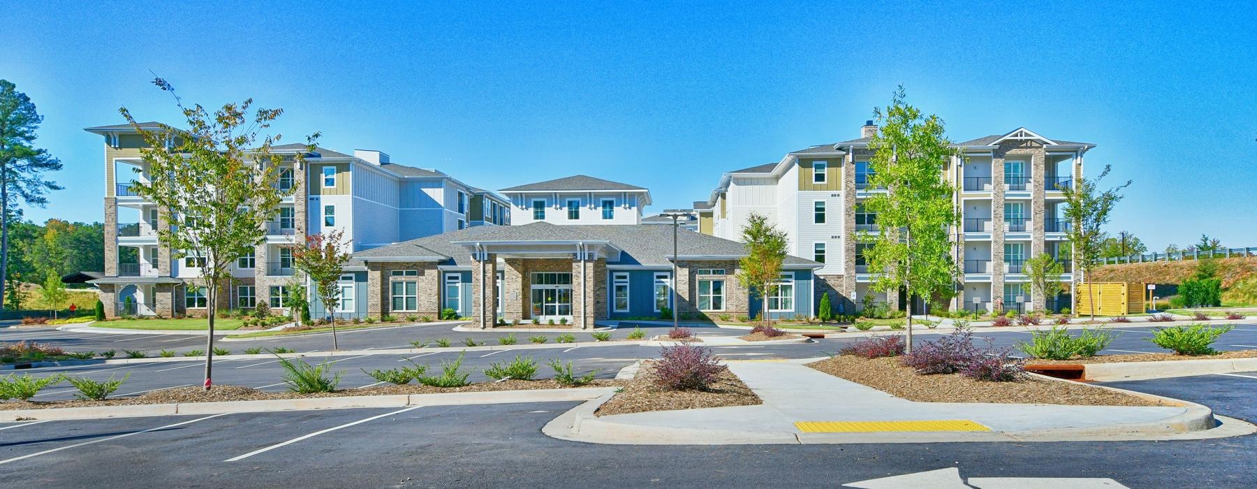
<instances>
[{"instance_id":1,"label":"long narrow mulch strip with green shrubs behind the left curb","mask_svg":"<svg viewBox=\"0 0 1257 489\"><path fill-rule=\"evenodd\" d=\"M595 380L581 387L615 387L623 385L623 381ZM431 387L420 383L373 386L367 388L347 388L334 392L297 393L297 392L266 392L243 386L214 386L209 391L201 387L178 387L162 391L152 391L134 397L108 398L104 401L48 401L48 402L0 402L0 410L26 410L48 407L84 407L84 406L136 406L146 404L173 404L173 402L219 402L219 401L261 401L274 398L310 398L310 397L343 397L343 396L388 396L407 393L442 393L442 392L491 392L491 391L533 391L542 388L581 388L564 387L553 378L535 381L508 380L502 382L476 382L463 387Z\"/></svg>"}]
</instances>

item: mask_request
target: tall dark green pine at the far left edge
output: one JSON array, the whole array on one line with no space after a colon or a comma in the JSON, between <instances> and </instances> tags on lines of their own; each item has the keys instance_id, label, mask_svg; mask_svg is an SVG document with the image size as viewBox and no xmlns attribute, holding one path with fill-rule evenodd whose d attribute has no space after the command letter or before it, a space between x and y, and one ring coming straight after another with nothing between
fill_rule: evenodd
<instances>
[{"instance_id":1,"label":"tall dark green pine at the far left edge","mask_svg":"<svg viewBox=\"0 0 1257 489\"><path fill-rule=\"evenodd\" d=\"M62 189L43 177L60 170L62 162L48 150L31 146L43 121L25 93L0 79L0 297L9 283L9 221L20 217L19 201L41 207L48 204L44 194Z\"/></svg>"}]
</instances>

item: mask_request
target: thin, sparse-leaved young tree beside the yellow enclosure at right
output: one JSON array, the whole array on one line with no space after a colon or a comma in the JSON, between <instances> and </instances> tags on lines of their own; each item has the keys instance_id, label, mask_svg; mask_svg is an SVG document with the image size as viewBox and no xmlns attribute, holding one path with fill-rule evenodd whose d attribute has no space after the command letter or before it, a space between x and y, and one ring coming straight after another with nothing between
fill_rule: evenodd
<instances>
[{"instance_id":1,"label":"thin, sparse-leaved young tree beside the yellow enclosure at right","mask_svg":"<svg viewBox=\"0 0 1257 489\"><path fill-rule=\"evenodd\" d=\"M1104 248L1104 233L1100 231L1100 228L1109 223L1109 214L1112 212L1112 207L1123 199L1121 190L1130 185L1130 180L1128 180L1116 187L1100 190L1100 181L1105 176L1109 176L1110 170L1112 167L1105 165L1104 171L1095 179L1079 177L1075 186L1062 189L1065 194L1065 219L1070 220L1070 229L1066 231L1066 238L1070 240L1073 269L1082 270L1084 279L1100 264ZM1075 290L1073 295L1076 297L1079 274L1075 273L1072 277L1075 287L1071 287L1071 289ZM1095 290L1092 287L1089 287L1087 290L1090 295L1089 303L1091 304L1091 321L1095 321ZM1077 314L1077 310L1073 310L1073 313Z\"/></svg>"}]
</instances>

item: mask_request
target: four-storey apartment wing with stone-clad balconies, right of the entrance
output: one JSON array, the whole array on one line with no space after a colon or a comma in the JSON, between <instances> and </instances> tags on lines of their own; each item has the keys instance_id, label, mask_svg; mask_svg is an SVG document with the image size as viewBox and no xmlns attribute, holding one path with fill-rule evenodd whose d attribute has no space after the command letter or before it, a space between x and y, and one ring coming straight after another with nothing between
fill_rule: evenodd
<instances>
[{"instance_id":1,"label":"four-storey apartment wing with stone-clad balconies, right of the entrance","mask_svg":"<svg viewBox=\"0 0 1257 489\"><path fill-rule=\"evenodd\" d=\"M860 230L876 233L877 216L864 201L885 192L870 185L876 135L872 121L857 140L818 145L781 161L724 173L706 201L694 202L699 231L738 239L752 214L771 217L791 238L789 254L823 264L817 294L830 293L840 310L857 310L866 295L899 307L899 294L870 290L871 277L857 243ZM1063 298L1032 294L1023 273L1031 256L1047 253L1068 260L1062 219L1062 187L1082 175L1091 143L1048 140L1019 127L957 143L958 156L941 171L958 191L962 225L953 230L953 258L962 268L953 309L1045 309L1068 305Z\"/></svg>"}]
</instances>

